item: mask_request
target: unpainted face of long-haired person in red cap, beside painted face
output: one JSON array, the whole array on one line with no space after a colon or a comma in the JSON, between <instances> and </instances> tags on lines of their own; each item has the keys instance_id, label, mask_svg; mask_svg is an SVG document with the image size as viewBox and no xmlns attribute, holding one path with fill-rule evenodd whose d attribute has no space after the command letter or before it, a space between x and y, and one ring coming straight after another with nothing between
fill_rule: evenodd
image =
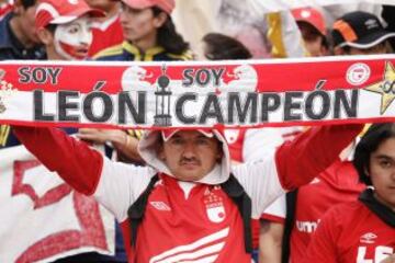
<instances>
[{"instance_id":1,"label":"unpainted face of long-haired person in red cap, beside painted face","mask_svg":"<svg viewBox=\"0 0 395 263\"><path fill-rule=\"evenodd\" d=\"M131 43L156 37L161 23L151 9L132 9L123 3L120 16L124 38Z\"/></svg>"}]
</instances>

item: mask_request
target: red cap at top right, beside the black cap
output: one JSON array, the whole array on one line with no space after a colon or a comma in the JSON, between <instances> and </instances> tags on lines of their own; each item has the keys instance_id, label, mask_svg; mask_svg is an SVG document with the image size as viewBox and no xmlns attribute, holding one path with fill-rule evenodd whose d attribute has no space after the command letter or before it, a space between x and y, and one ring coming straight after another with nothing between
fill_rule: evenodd
<instances>
[{"instance_id":1,"label":"red cap at top right, beside the black cap","mask_svg":"<svg viewBox=\"0 0 395 263\"><path fill-rule=\"evenodd\" d=\"M326 23L323 14L314 8L298 8L292 10L296 22L306 22L313 25L321 35L326 35Z\"/></svg>"}]
</instances>

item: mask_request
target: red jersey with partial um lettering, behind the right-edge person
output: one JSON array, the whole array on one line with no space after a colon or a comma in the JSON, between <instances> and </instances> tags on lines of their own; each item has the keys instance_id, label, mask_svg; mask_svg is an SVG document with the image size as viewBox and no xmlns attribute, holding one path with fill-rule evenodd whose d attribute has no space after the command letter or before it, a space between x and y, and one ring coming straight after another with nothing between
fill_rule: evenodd
<instances>
[{"instance_id":1,"label":"red jersey with partial um lettering, behind the right-edge person","mask_svg":"<svg viewBox=\"0 0 395 263\"><path fill-rule=\"evenodd\" d=\"M300 187L291 233L291 262L302 262L313 232L334 205L357 201L365 185L350 161L335 162L308 185Z\"/></svg>"}]
</instances>

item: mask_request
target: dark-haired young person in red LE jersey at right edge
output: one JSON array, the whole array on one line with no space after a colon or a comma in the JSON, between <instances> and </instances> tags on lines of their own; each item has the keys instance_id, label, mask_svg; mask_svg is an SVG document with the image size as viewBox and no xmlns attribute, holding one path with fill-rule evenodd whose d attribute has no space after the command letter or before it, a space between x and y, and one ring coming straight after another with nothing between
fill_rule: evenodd
<instances>
[{"instance_id":1,"label":"dark-haired young person in red LE jersey at right edge","mask_svg":"<svg viewBox=\"0 0 395 263\"><path fill-rule=\"evenodd\" d=\"M358 201L327 211L305 262L394 262L395 124L372 125L356 148L353 164L369 187Z\"/></svg>"}]
</instances>

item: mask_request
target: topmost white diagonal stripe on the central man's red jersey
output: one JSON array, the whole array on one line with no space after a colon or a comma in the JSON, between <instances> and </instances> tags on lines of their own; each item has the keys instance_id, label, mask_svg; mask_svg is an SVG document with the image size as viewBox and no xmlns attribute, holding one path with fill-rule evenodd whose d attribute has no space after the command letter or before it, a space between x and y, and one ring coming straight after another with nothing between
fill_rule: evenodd
<instances>
[{"instance_id":1,"label":"topmost white diagonal stripe on the central man's red jersey","mask_svg":"<svg viewBox=\"0 0 395 263\"><path fill-rule=\"evenodd\" d=\"M223 238L227 237L228 233L229 233L229 228L225 228L225 229L223 229L221 231L217 231L215 233L212 233L210 236L201 238L201 239L194 241L193 243L179 245L179 247L176 247L176 248L170 249L168 251L165 251L163 253L154 256L149 262L150 263L159 262L159 261L161 261L161 260L163 260L163 259L166 259L168 256L172 256L172 255L178 254L178 253L195 250L199 247L206 245L206 244L208 244L211 242L214 242L214 241L219 241L219 239L223 239Z\"/></svg>"}]
</instances>

